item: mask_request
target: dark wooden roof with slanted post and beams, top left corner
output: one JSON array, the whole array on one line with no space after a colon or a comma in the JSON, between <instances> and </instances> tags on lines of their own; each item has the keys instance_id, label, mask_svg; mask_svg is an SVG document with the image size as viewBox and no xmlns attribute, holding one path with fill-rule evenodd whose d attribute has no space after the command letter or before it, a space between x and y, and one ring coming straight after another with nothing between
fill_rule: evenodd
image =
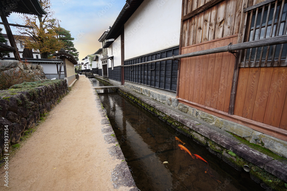
<instances>
[{"instance_id":1,"label":"dark wooden roof with slanted post and beams, top left corner","mask_svg":"<svg viewBox=\"0 0 287 191\"><path fill-rule=\"evenodd\" d=\"M10 24L8 23L7 17L9 17L10 13L12 12L29 14L29 15L37 15L37 16L41 16L47 13L44 11L44 9L42 8L38 0L21 0L21 1L6 0L6 1L0 1L0 6L2 8L0 10L0 17L1 17L2 23L0 24L4 25L9 42L11 44L11 46L7 46L6 44L0 43L0 49L13 51L15 59L21 61L20 54L18 52L17 45L15 43L15 39L13 37L10 25L18 26L18 27L28 27L28 28L31 28L31 27Z\"/></svg>"}]
</instances>

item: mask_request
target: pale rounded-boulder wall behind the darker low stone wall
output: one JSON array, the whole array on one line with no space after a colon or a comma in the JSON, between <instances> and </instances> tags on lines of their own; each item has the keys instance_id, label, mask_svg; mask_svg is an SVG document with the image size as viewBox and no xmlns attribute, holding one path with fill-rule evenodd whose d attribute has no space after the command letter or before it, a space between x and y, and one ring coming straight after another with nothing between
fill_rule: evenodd
<instances>
[{"instance_id":1,"label":"pale rounded-boulder wall behind the darker low stone wall","mask_svg":"<svg viewBox=\"0 0 287 191\"><path fill-rule=\"evenodd\" d=\"M43 66L19 62L17 60L0 60L0 70L1 72L7 72L8 74L22 71L26 74L32 74L36 78L47 79Z\"/></svg>"}]
</instances>

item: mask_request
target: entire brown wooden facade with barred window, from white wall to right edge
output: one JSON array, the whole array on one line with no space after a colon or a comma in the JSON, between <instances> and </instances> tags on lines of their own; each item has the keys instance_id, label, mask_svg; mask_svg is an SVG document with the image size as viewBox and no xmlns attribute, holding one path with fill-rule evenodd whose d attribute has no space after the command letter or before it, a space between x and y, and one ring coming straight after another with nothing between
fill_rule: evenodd
<instances>
[{"instance_id":1,"label":"entire brown wooden facade with barred window, from white wall to right edge","mask_svg":"<svg viewBox=\"0 0 287 191\"><path fill-rule=\"evenodd\" d=\"M186 54L227 46L230 42L237 44L256 40L260 35L266 36L267 30L263 27L267 24L262 23L269 23L271 28L266 38L272 36L273 28L278 34L277 21L270 20L269 14L274 18L276 12L271 10L272 6L277 7L277 3L281 7L287 6L286 2L183 0L180 52ZM283 9L278 10L277 20L285 18ZM264 14L266 18L261 16ZM284 29L281 28L285 34L287 20L280 22L284 24ZM255 32L251 33L251 30L258 30L256 35L259 37L255 38ZM274 57L274 47L277 46L283 50L276 53L278 59L282 58L281 64ZM223 52L181 59L177 99L195 109L287 141L286 47L272 45L264 51L263 48L253 48L252 53L249 49L240 50L234 54L236 57ZM273 65L264 63L269 51ZM242 60L247 60L244 66Z\"/></svg>"}]
</instances>

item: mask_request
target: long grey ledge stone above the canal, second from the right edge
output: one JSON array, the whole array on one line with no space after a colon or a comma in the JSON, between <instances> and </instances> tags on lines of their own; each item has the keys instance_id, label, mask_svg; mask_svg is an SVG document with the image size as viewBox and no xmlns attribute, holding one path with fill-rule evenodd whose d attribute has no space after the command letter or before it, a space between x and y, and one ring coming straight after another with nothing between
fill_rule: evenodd
<instances>
[{"instance_id":1,"label":"long grey ledge stone above the canal, second from the right edge","mask_svg":"<svg viewBox=\"0 0 287 191\"><path fill-rule=\"evenodd\" d=\"M265 163L273 160L272 157L269 157L244 144L232 146L231 151L241 156L242 158L252 162L253 164L259 166L260 168L263 168Z\"/></svg>"}]
</instances>

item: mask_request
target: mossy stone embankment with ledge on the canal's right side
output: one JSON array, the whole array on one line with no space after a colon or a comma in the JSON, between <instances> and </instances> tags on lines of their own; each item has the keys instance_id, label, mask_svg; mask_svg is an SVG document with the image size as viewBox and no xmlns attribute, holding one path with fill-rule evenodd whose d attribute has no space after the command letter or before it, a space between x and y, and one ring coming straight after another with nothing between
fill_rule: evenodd
<instances>
[{"instance_id":1,"label":"mossy stone embankment with ledge on the canal's right side","mask_svg":"<svg viewBox=\"0 0 287 191\"><path fill-rule=\"evenodd\" d=\"M114 85L102 78L97 79L104 84ZM249 174L251 178L255 182L261 184L263 188L267 190L287 189L287 165L283 163L283 158L280 158L274 153L272 153L273 155L269 153L268 155L264 154L235 138L230 138L230 136L226 134L224 135L226 132L220 132L220 128L210 128L210 125L203 125L189 118L189 115L197 115L198 117L196 118L205 115L199 115L199 111L188 113L189 108L187 108L185 110L186 112L183 114L174 111L173 108L175 105L177 106L177 109L183 106L172 98L168 99L168 103L166 103L167 99L161 99L162 95L157 95L157 101L168 106L173 106L167 107L164 104L153 101L152 99L154 98L150 99L152 93L149 92L149 90L140 90L142 94L147 94L146 96L143 96L131 89L133 88L120 86L118 92L158 116L162 121L177 129L177 131L205 146L211 153L217 155L236 170L242 171L244 165L247 165L250 170ZM216 123L216 120L217 119L214 119L212 122L213 125ZM221 123L221 125L224 124Z\"/></svg>"}]
</instances>

